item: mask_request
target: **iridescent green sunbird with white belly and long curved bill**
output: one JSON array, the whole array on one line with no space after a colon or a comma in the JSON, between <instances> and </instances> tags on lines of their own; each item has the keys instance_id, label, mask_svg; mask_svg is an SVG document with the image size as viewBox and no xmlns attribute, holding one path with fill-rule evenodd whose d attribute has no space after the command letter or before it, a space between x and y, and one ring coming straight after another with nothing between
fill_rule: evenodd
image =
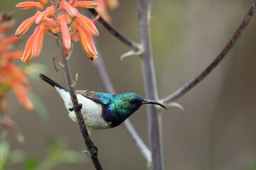
<instances>
[{"instance_id":1,"label":"iridescent green sunbird with white belly and long curved bill","mask_svg":"<svg viewBox=\"0 0 256 170\"><path fill-rule=\"evenodd\" d=\"M58 91L68 110L68 116L77 122L69 91L43 74L39 74L39 77ZM113 95L85 90L75 91L75 94L78 103L82 104L82 117L89 134L92 130L114 128L120 125L143 104L156 104L166 109L162 103L146 100L134 93Z\"/></svg>"}]
</instances>

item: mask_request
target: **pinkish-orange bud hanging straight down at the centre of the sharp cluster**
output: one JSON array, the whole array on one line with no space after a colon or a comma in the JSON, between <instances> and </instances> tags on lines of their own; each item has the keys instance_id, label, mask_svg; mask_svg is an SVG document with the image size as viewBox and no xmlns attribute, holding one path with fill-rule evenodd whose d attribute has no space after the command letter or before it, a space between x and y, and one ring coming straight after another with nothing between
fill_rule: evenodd
<instances>
[{"instance_id":1,"label":"pinkish-orange bud hanging straight down at the centre of the sharp cluster","mask_svg":"<svg viewBox=\"0 0 256 170\"><path fill-rule=\"evenodd\" d=\"M68 18L65 15L60 15L57 18L57 23L60 25L62 37L63 37L63 45L66 49L71 48L71 38L70 38L70 33L68 31L68 26L67 26Z\"/></svg>"}]
</instances>

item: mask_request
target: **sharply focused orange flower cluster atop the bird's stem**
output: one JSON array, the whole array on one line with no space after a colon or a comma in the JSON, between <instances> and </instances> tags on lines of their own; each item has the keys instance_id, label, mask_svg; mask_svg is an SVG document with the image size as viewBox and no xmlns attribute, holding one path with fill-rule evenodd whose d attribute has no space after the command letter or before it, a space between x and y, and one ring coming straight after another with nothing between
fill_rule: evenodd
<instances>
[{"instance_id":1,"label":"sharply focused orange flower cluster atop the bird's stem","mask_svg":"<svg viewBox=\"0 0 256 170\"><path fill-rule=\"evenodd\" d=\"M65 51L70 52L72 41L80 40L82 50L90 60L97 58L97 50L92 36L99 35L94 22L79 13L76 7L95 8L94 1L77 0L37 0L24 1L16 5L19 9L37 8L31 18L23 21L16 30L15 35L23 35L33 23L38 26L26 42L26 47L21 57L23 62L29 63L32 57L38 57L43 47L43 37L46 32L58 34L61 32ZM43 10L43 11L40 11Z\"/></svg>"}]
</instances>

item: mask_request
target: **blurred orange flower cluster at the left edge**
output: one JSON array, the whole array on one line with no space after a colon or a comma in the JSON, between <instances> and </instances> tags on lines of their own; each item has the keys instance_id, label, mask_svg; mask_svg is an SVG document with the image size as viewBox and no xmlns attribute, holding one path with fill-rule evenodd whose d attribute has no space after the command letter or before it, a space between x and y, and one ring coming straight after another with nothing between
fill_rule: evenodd
<instances>
[{"instance_id":1,"label":"blurred orange flower cluster at the left edge","mask_svg":"<svg viewBox=\"0 0 256 170\"><path fill-rule=\"evenodd\" d=\"M14 91L24 108L33 109L33 103L28 98L28 74L14 64L20 59L23 50L11 50L12 45L20 38L10 35L4 36L6 30L14 26L14 21L6 19L6 14L0 13L0 112L7 111L7 92Z\"/></svg>"}]
</instances>

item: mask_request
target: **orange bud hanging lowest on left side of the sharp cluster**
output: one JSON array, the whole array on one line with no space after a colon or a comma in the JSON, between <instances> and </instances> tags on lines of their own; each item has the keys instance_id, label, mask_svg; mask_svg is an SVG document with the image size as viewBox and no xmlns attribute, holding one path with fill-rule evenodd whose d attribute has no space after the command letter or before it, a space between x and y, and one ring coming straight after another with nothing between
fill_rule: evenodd
<instances>
[{"instance_id":1,"label":"orange bud hanging lowest on left side of the sharp cluster","mask_svg":"<svg viewBox=\"0 0 256 170\"><path fill-rule=\"evenodd\" d=\"M46 30L50 30L50 28L46 26L46 24L41 23L32 47L32 56L35 58L38 57L41 53L43 47L43 37L46 33Z\"/></svg>"}]
</instances>

